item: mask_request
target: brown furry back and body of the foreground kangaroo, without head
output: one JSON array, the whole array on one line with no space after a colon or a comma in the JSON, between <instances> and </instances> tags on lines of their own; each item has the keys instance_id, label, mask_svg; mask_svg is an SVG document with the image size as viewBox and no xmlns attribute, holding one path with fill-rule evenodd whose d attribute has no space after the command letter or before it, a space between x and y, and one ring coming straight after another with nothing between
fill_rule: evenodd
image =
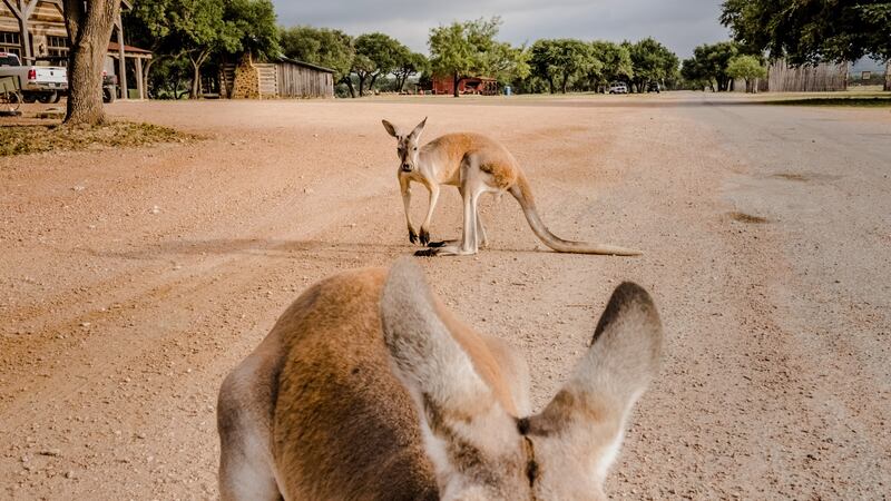
<instances>
[{"instance_id":1,"label":"brown furry back and body of the foreground kangaroo, without head","mask_svg":"<svg viewBox=\"0 0 891 501\"><path fill-rule=\"evenodd\" d=\"M362 269L315 284L226 379L224 499L438 499L418 413L383 341L385 277ZM525 382L508 383L526 377L525 363L437 308L503 406L528 412Z\"/></svg>"}]
</instances>

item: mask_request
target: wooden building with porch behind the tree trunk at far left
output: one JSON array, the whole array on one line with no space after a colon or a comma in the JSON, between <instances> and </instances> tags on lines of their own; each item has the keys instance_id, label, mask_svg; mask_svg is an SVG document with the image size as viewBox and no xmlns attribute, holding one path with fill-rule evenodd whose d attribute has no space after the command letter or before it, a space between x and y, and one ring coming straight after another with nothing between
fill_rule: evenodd
<instances>
[{"instance_id":1,"label":"wooden building with porch behind the tree trunk at far left","mask_svg":"<svg viewBox=\"0 0 891 501\"><path fill-rule=\"evenodd\" d=\"M130 9L129 0L123 0L120 8ZM121 45L124 24L120 16L115 20L106 56L106 68L111 69L120 84L120 98L146 99L143 82L143 61L151 58L151 52ZM65 28L61 0L0 0L0 52L18 55L25 62L35 59L53 58L53 65L67 65L68 31ZM47 63L47 62L43 62ZM136 82L136 92L128 91L128 79Z\"/></svg>"}]
</instances>

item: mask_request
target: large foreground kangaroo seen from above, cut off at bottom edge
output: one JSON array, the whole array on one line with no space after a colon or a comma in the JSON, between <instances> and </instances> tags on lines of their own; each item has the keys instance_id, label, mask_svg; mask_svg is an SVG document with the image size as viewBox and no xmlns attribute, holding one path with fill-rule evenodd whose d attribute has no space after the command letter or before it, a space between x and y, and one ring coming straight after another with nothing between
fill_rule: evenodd
<instances>
[{"instance_id":1,"label":"large foreground kangaroo seen from above, cut off at bottom edge","mask_svg":"<svg viewBox=\"0 0 891 501\"><path fill-rule=\"evenodd\" d=\"M223 382L223 500L590 500L655 376L662 324L616 288L530 413L523 358L458 321L402 258L304 292Z\"/></svg>"}]
</instances>

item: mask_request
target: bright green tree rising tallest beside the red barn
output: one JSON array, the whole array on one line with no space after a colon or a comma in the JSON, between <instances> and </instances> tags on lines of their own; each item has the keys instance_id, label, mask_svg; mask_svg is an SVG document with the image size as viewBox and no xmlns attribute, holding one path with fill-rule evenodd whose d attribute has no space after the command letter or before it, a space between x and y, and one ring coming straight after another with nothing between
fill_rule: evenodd
<instances>
[{"instance_id":1,"label":"bright green tree rising tallest beside the red barn","mask_svg":"<svg viewBox=\"0 0 891 501\"><path fill-rule=\"evenodd\" d=\"M454 97L459 96L461 80L471 75L489 73L503 81L529 73L527 51L495 39L500 24L501 19L493 17L430 30L428 45L433 75L452 77Z\"/></svg>"}]
</instances>

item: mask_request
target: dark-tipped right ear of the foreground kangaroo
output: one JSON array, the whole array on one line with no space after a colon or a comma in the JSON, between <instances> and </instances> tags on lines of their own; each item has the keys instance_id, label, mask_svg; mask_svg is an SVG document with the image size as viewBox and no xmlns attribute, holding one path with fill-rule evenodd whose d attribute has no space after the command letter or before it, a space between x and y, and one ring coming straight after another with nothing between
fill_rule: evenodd
<instances>
[{"instance_id":1,"label":"dark-tipped right ear of the foreground kangaroo","mask_svg":"<svg viewBox=\"0 0 891 501\"><path fill-rule=\"evenodd\" d=\"M579 444L590 455L584 459L588 471L603 480L635 402L658 371L662 344L649 294L636 284L619 285L588 353L545 411L529 420L530 433Z\"/></svg>"}]
</instances>

